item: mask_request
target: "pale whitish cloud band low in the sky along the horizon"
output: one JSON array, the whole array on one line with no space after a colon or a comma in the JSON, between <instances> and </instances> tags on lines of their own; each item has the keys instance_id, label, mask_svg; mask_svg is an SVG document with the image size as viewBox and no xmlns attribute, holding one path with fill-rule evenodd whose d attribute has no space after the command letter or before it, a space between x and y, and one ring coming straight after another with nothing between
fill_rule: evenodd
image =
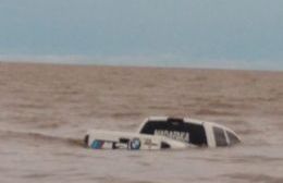
<instances>
[{"instance_id":1,"label":"pale whitish cloud band low in the sky along the horizon","mask_svg":"<svg viewBox=\"0 0 283 183\"><path fill-rule=\"evenodd\" d=\"M78 54L65 56L4 56L0 54L0 62L5 63L45 63L63 65L106 65L106 66L137 66L137 68L173 68L173 69L212 69L212 70L244 70L244 71L278 71L283 68L272 66L266 62L254 64L243 60L205 60L199 61L163 56L101 56L89 57Z\"/></svg>"}]
</instances>

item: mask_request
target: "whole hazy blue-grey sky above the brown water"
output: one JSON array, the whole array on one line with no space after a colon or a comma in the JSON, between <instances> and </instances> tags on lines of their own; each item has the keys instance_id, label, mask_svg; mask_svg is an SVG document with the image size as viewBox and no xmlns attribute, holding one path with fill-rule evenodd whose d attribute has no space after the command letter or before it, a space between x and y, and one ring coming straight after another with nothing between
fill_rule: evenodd
<instances>
[{"instance_id":1,"label":"whole hazy blue-grey sky above the brown water","mask_svg":"<svg viewBox=\"0 0 283 183\"><path fill-rule=\"evenodd\" d=\"M283 70L282 0L0 0L0 60Z\"/></svg>"}]
</instances>

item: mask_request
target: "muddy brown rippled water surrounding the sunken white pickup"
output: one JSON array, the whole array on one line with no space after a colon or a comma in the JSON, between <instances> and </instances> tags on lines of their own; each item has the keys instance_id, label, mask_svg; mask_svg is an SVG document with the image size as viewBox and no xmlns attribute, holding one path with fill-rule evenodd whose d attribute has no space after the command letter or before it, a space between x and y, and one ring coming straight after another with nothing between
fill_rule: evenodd
<instances>
[{"instance_id":1,"label":"muddy brown rippled water surrounding the sunken white pickup","mask_svg":"<svg viewBox=\"0 0 283 183\"><path fill-rule=\"evenodd\" d=\"M280 182L282 94L282 72L0 63L0 182ZM83 148L86 130L135 131L148 115L216 121L243 144Z\"/></svg>"}]
</instances>

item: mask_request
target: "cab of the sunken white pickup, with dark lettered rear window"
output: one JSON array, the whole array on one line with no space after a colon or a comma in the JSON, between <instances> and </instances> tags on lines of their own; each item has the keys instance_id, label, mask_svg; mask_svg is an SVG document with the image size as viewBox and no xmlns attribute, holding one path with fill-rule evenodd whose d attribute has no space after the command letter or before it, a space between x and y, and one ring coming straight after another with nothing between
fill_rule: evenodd
<instances>
[{"instance_id":1,"label":"cab of the sunken white pickup, with dark lettered rear window","mask_svg":"<svg viewBox=\"0 0 283 183\"><path fill-rule=\"evenodd\" d=\"M241 142L234 131L223 125L189 118L151 117L142 123L137 133L167 136L196 146L224 147Z\"/></svg>"}]
</instances>

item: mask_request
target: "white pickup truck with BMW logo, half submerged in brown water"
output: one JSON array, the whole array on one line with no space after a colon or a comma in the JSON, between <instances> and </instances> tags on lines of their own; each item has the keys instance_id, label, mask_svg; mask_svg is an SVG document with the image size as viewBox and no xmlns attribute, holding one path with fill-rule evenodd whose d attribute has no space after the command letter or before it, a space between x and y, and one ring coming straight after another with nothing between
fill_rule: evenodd
<instances>
[{"instance_id":1,"label":"white pickup truck with BMW logo, half submerged in brown water","mask_svg":"<svg viewBox=\"0 0 283 183\"><path fill-rule=\"evenodd\" d=\"M236 133L223 125L168 117L146 119L136 133L93 130L85 135L85 145L93 149L184 149L225 147L239 142Z\"/></svg>"}]
</instances>

